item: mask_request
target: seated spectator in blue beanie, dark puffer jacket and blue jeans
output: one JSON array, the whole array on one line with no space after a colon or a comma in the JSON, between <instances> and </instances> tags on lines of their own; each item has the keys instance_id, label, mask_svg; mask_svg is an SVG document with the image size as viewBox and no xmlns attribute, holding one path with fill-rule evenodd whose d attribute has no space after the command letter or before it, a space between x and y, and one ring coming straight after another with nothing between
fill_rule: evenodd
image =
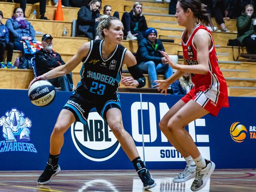
<instances>
[{"instance_id":1,"label":"seated spectator in blue beanie, dark puffer jacket and blue jeans","mask_svg":"<svg viewBox=\"0 0 256 192\"><path fill-rule=\"evenodd\" d=\"M167 59L163 57L160 51L164 51L163 43L157 38L157 31L154 28L146 30L146 37L139 42L136 53L139 68L144 73L148 73L148 78L152 88L156 88L154 81L157 79L157 73L164 74L169 78L173 74L173 69L168 65Z\"/></svg>"}]
</instances>

